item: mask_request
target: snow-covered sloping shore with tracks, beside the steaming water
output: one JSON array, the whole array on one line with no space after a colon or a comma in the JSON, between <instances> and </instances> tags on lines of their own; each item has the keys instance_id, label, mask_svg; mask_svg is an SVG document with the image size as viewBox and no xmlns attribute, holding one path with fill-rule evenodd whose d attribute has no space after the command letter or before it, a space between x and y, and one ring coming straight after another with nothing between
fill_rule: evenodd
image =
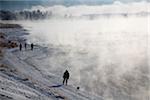
<instances>
[{"instance_id":1,"label":"snow-covered sloping shore with tracks, beside the steaming water","mask_svg":"<svg viewBox=\"0 0 150 100\"><path fill-rule=\"evenodd\" d=\"M0 31L6 34L7 40L18 43L24 43L22 37L27 34L22 28L3 28ZM102 100L99 96L77 90L73 85L61 85L62 76L48 73L45 67L38 66L35 60L46 56L43 53L45 48L36 46L34 51L5 48L0 61L0 100ZM51 48L54 49L58 50Z\"/></svg>"}]
</instances>

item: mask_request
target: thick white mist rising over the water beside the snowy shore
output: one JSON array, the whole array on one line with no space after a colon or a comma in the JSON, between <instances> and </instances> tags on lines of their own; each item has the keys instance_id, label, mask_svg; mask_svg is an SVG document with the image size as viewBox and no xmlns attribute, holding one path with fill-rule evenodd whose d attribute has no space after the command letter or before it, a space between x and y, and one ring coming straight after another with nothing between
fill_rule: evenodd
<instances>
[{"instance_id":1,"label":"thick white mist rising over the water beside the snowy shore","mask_svg":"<svg viewBox=\"0 0 150 100\"><path fill-rule=\"evenodd\" d=\"M104 100L148 100L148 5L36 6L33 9L52 11L53 16L18 23L31 33L28 42L59 48L49 49L54 54L38 61L47 71L69 69L70 84Z\"/></svg>"}]
</instances>

